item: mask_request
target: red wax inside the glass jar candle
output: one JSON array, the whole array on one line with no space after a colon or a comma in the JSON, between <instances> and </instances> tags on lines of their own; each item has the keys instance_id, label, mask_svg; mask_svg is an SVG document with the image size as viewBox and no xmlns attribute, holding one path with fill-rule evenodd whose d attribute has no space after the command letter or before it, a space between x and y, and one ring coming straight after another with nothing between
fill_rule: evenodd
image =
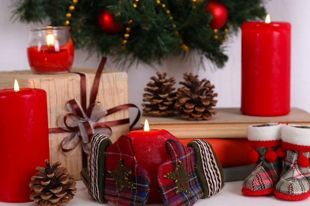
<instances>
[{"instance_id":1,"label":"red wax inside the glass jar candle","mask_svg":"<svg viewBox=\"0 0 310 206\"><path fill-rule=\"evenodd\" d=\"M28 62L34 73L66 73L71 69L74 46L71 39L59 49L48 45L35 45L27 48Z\"/></svg>"}]
</instances>

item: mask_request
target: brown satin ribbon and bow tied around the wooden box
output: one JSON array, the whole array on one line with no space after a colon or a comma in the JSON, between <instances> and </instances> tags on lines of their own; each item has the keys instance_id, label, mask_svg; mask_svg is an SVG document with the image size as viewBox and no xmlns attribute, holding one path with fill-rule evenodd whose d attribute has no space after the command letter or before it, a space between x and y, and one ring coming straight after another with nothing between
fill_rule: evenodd
<instances>
[{"instance_id":1,"label":"brown satin ribbon and bow tied around the wooden box","mask_svg":"<svg viewBox=\"0 0 310 206\"><path fill-rule=\"evenodd\" d=\"M69 131L71 131L71 133L63 140L63 142L61 144L61 150L63 152L69 152L69 151L75 149L80 144L80 141L81 141L80 140L75 145L71 146L70 148L65 148L65 145L68 142L73 140L73 138L76 135L76 132L79 132L78 126L72 127L72 126L69 126L66 124L66 120L68 118L70 118L71 116L75 116L77 118L80 118L80 120L82 120L83 126L85 127L86 132L87 132L87 136L88 136L88 140L82 140L82 142L83 141L84 141L84 143L90 142L90 139L93 135L93 131L91 128L92 125L88 122L88 120L90 119L92 110L93 110L94 106L96 105L96 97L98 94L100 78L101 78L101 75L103 72L103 67L104 67L105 63L106 63L106 57L103 56L99 66L98 66L96 75L95 75L95 80L94 80L93 87L91 90L91 95L90 95L90 104L89 104L88 108L86 106L87 105L86 76L83 73L74 72L75 74L78 74L81 77L81 86L80 86L80 89L81 89L81 107L82 107L84 114L86 114L86 117L84 117L83 112L82 112L81 108L79 107L78 103L74 99L71 99L69 101L69 104L74 109L74 112L76 114L69 113L69 114L66 114L64 116L64 123L66 125L66 128ZM130 128L132 128L138 122L140 115L141 115L139 108L134 104L123 104L123 105L113 107L113 108L107 110L106 116L113 114L115 112L124 110L124 109L129 109L131 107L138 109L138 114L137 114L135 120L133 121L133 123L130 125ZM96 123L93 125L93 128L95 129L95 128L102 127L102 128L110 129L110 126L116 126L116 125L120 125L120 124L128 124L129 122L130 122L129 118L127 118L127 119L121 119L121 120L108 121L108 122L104 122L104 123ZM62 129L62 128L49 128L49 133L62 133L62 132L68 132L68 131L65 129ZM83 152L83 161L82 162L83 162L83 167L86 167L87 166L87 154L85 152Z\"/></svg>"}]
</instances>

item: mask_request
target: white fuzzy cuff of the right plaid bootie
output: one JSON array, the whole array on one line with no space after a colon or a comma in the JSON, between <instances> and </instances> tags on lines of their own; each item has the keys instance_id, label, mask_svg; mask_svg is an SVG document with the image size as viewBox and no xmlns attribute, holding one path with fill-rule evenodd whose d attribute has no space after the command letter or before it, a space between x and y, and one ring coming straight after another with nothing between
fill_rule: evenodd
<instances>
[{"instance_id":1,"label":"white fuzzy cuff of the right plaid bootie","mask_svg":"<svg viewBox=\"0 0 310 206\"><path fill-rule=\"evenodd\" d=\"M282 141L302 146L310 146L310 125L284 125L281 129Z\"/></svg>"}]
</instances>

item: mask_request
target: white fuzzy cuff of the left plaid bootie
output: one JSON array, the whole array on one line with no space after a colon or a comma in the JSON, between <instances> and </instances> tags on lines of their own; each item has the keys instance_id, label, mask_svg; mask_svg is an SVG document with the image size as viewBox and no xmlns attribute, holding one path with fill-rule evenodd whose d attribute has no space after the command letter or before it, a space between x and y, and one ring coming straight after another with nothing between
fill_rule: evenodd
<instances>
[{"instance_id":1,"label":"white fuzzy cuff of the left plaid bootie","mask_svg":"<svg viewBox=\"0 0 310 206\"><path fill-rule=\"evenodd\" d=\"M281 140L281 126L279 123L256 124L248 126L248 140L270 141Z\"/></svg>"}]
</instances>

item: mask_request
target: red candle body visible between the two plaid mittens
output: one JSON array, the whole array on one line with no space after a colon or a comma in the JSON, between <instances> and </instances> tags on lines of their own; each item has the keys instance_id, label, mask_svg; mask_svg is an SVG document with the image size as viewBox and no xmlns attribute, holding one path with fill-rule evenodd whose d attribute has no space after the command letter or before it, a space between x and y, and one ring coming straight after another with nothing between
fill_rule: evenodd
<instances>
[{"instance_id":1,"label":"red candle body visible between the two plaid mittens","mask_svg":"<svg viewBox=\"0 0 310 206\"><path fill-rule=\"evenodd\" d=\"M127 136L132 140L137 162L147 170L150 176L151 186L147 203L162 203L155 183L157 168L169 158L165 148L166 141L168 139L178 141L178 139L164 129L135 130L130 131Z\"/></svg>"}]
</instances>

